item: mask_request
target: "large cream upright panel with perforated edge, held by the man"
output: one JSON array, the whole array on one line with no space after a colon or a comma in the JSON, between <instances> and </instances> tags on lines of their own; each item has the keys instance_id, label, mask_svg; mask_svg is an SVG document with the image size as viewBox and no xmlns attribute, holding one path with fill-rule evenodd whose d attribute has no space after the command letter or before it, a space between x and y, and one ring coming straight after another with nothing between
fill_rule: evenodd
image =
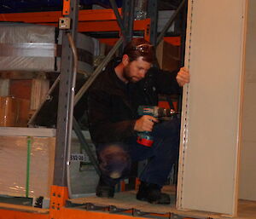
<instances>
[{"instance_id":1,"label":"large cream upright panel with perforated edge, held by the man","mask_svg":"<svg viewBox=\"0 0 256 219\"><path fill-rule=\"evenodd\" d=\"M236 213L245 0L190 0L177 207Z\"/></svg>"}]
</instances>

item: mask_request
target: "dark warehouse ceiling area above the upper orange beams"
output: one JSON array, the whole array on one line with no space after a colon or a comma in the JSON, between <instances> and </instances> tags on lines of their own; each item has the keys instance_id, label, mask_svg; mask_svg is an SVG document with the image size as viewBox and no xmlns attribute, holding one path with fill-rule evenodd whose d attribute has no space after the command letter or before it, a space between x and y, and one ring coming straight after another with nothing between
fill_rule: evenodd
<instances>
[{"instance_id":1,"label":"dark warehouse ceiling area above the upper orange beams","mask_svg":"<svg viewBox=\"0 0 256 219\"><path fill-rule=\"evenodd\" d=\"M143 0L137 0L143 1ZM146 1L146 0L144 0ZM177 9L181 0L160 0L159 9ZM121 7L122 1L116 1L118 7ZM91 9L93 4L109 8L108 0L80 0L80 9ZM20 13L20 12L38 12L53 11L62 9L62 0L0 0L0 14L2 13Z\"/></svg>"}]
</instances>

